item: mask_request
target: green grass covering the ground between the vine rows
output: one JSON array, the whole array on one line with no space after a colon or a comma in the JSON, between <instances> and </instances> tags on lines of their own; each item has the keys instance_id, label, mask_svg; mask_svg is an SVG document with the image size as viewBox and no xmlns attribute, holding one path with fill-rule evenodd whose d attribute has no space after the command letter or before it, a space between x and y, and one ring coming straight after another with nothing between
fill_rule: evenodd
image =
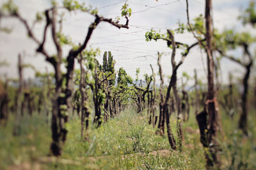
<instances>
[{"instance_id":1,"label":"green grass covering the ground between the vine rows","mask_svg":"<svg viewBox=\"0 0 256 170\"><path fill-rule=\"evenodd\" d=\"M193 113L193 111L191 111ZM221 115L219 135L221 169L256 169L256 126L250 113L250 134L237 130L237 117ZM51 143L50 125L44 115L26 115L20 120L19 136L13 136L13 115L0 129L0 169L205 169L204 148L200 144L195 116L184 122L184 148L172 151L165 136L147 123L147 115L125 110L98 129L80 137L80 120L70 118L68 136L59 160L44 160ZM172 130L176 132L172 116ZM175 136L177 136L175 134Z\"/></svg>"}]
</instances>

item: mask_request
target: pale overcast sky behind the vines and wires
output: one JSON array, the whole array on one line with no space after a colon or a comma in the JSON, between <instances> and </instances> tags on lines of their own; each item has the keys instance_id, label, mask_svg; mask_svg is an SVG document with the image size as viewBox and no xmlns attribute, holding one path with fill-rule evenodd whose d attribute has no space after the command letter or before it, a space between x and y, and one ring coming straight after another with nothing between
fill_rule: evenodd
<instances>
[{"instance_id":1,"label":"pale overcast sky behind the vines and wires","mask_svg":"<svg viewBox=\"0 0 256 170\"><path fill-rule=\"evenodd\" d=\"M0 3L4 1L1 0ZM86 4L91 4L99 9L99 14L108 18L120 16L120 8L125 1L121 0L88 0ZM31 24L35 18L36 11L44 11L49 8L48 0L16 0L15 4L19 6L19 11L24 18L27 18ZM157 52L164 52L162 59L164 75L172 74L170 63L170 48L167 48L164 41L145 41L145 32L151 28L156 31L166 32L166 29L176 29L177 22L186 24L186 0L129 0L129 7L132 8L132 16L129 22L129 29L117 29L109 24L102 23L93 32L88 48L99 48L101 56L104 51L111 51L116 60L116 70L124 67L128 74L133 78L137 67L140 67L142 78L143 74L151 74L150 64L153 65L155 72L157 67ZM215 0L212 1L214 27L220 30L236 29L236 31L250 31L250 27L242 27L237 17L241 10L248 6L248 0ZM204 0L189 0L190 18L195 18L201 13L204 15ZM151 8L154 7L154 8ZM87 13L67 13L63 23L63 32L72 38L75 43L83 42L87 34L88 25L93 22L93 17ZM121 22L124 20L121 20ZM1 76L7 73L10 77L17 77L17 55L24 53L24 62L33 64L38 71L45 71L48 67L52 71L52 67L45 62L42 55L36 54L36 45L26 36L24 25L15 19L1 20L1 26L12 28L12 33L6 34L0 32L0 60L6 60L10 66L0 68ZM39 39L42 39L42 29L44 24L35 26L35 33ZM48 36L46 48L52 54L54 46L52 46L51 36ZM175 36L176 41L184 43L195 43L196 39L191 34ZM70 47L65 47L67 52ZM65 53L66 55L66 53ZM65 56L64 55L64 56ZM100 61L101 56L97 57ZM179 50L176 60L180 59ZM184 64L180 67L178 74L186 71L193 76L194 69L197 69L200 78L206 78L204 67L206 67L206 57L204 52L200 52L198 48L192 50L185 59ZM223 71L223 81L227 80L228 71L241 74L243 69L228 60L222 60L221 69ZM33 77L34 73L30 69L25 71L26 78ZM159 79L159 78L157 78Z\"/></svg>"}]
</instances>

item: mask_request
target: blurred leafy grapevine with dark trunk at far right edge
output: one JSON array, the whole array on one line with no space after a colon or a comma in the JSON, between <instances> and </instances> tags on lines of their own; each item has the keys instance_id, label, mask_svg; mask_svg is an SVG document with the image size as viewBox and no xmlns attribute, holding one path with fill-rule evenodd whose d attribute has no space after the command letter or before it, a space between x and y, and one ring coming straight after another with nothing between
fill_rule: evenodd
<instances>
[{"instance_id":1,"label":"blurred leafy grapevine with dark trunk at far right edge","mask_svg":"<svg viewBox=\"0 0 256 170\"><path fill-rule=\"evenodd\" d=\"M248 86L250 74L252 72L253 61L255 58L253 57L249 48L253 43L256 42L256 38L251 36L248 32L235 33L234 31L228 30L224 31L218 36L217 42L219 43L217 50L221 57L225 57L229 60L232 60L233 62L236 62L246 70L243 76L243 93L241 94L242 113L239 119L239 128L244 132L244 134L247 135ZM237 47L243 48L243 55L241 57L237 58L232 55L227 55L227 50L233 50ZM245 57L247 57L247 59Z\"/></svg>"}]
</instances>

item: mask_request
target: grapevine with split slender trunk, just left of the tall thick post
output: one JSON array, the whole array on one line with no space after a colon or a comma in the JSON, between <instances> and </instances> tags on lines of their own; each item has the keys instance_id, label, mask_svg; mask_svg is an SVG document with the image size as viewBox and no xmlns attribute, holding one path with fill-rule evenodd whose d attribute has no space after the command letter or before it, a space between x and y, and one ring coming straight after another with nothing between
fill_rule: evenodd
<instances>
[{"instance_id":1,"label":"grapevine with split slender trunk, just left of the tall thick post","mask_svg":"<svg viewBox=\"0 0 256 170\"><path fill-rule=\"evenodd\" d=\"M184 25L180 25L180 27L178 29L176 29L175 32L177 32L177 34L184 33ZM174 31L167 30L166 34L159 34L158 32L151 29L151 31L146 32L145 37L146 37L146 41L151 41L152 39L155 40L155 41L157 41L158 39L163 39L164 41L167 42L167 46L172 49L172 57L171 57L172 76L170 78L170 82L169 82L169 85L168 85L168 89L167 89L167 92L166 92L164 103L162 103L163 113L164 113L163 117L165 117L164 120L166 121L169 143L170 143L170 145L173 149L176 149L177 148L176 143L175 143L175 140L173 138L172 131L170 129L170 113L169 113L169 110L168 110L168 103L169 103L169 100L170 100L170 92L173 89L173 94L174 94L174 97L175 97L175 101L176 101L176 105L177 105L177 111L178 111L178 117L177 117L178 132L177 132L177 134L179 136L179 148L181 149L182 148L182 140L183 140L182 118L181 118L182 112L181 112L180 99L179 99L179 96L177 94L177 87L176 87L176 85L177 85L177 70L179 69L180 65L184 62L184 59L186 59L186 57L189 54L189 51L191 50L191 48L198 45L201 41L193 43L192 45L187 45L186 43L181 43L179 41L175 41L173 33L174 33ZM181 57L181 59L178 63L175 62L175 55L176 55L175 49L176 48L184 48L184 51L181 53L182 57ZM159 70L159 72L160 72L160 70ZM161 78L161 76L160 76L160 78ZM160 96L161 96L161 92L160 92Z\"/></svg>"}]
</instances>

